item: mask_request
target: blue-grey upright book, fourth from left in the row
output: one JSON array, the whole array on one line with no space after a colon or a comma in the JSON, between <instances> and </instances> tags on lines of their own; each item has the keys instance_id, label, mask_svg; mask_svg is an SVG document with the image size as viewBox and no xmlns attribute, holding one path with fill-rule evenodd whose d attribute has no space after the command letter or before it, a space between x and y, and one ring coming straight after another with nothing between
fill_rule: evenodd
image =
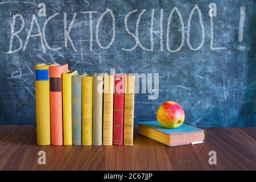
<instances>
[{"instance_id":1,"label":"blue-grey upright book, fourth from left in the row","mask_svg":"<svg viewBox=\"0 0 256 182\"><path fill-rule=\"evenodd\" d=\"M72 144L82 144L82 77L72 76Z\"/></svg>"}]
</instances>

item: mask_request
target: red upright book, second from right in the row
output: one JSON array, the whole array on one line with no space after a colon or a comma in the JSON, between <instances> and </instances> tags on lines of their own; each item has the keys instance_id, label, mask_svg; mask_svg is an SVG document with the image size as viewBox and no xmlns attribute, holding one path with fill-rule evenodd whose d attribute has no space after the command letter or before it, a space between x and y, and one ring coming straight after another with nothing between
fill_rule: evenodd
<instances>
[{"instance_id":1,"label":"red upright book, second from right in the row","mask_svg":"<svg viewBox=\"0 0 256 182\"><path fill-rule=\"evenodd\" d=\"M125 74L114 75L114 127L113 144L123 145L123 110L125 101Z\"/></svg>"}]
</instances>

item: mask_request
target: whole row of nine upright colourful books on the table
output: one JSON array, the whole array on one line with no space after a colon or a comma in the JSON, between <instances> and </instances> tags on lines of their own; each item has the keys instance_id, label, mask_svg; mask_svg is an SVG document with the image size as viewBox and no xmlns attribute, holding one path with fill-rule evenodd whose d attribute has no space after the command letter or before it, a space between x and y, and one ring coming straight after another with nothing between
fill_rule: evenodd
<instances>
[{"instance_id":1,"label":"whole row of nine upright colourful books on the table","mask_svg":"<svg viewBox=\"0 0 256 182\"><path fill-rule=\"evenodd\" d=\"M38 145L133 145L134 74L35 65Z\"/></svg>"}]
</instances>

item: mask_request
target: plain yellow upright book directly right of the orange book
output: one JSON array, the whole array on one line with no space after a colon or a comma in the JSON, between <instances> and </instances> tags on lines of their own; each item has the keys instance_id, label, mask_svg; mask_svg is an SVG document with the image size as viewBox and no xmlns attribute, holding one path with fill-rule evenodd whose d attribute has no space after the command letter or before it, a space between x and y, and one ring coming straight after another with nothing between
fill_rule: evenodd
<instances>
[{"instance_id":1,"label":"plain yellow upright book directly right of the orange book","mask_svg":"<svg viewBox=\"0 0 256 182\"><path fill-rule=\"evenodd\" d=\"M77 71L62 73L64 146L72 146L72 76L76 74Z\"/></svg>"}]
</instances>

